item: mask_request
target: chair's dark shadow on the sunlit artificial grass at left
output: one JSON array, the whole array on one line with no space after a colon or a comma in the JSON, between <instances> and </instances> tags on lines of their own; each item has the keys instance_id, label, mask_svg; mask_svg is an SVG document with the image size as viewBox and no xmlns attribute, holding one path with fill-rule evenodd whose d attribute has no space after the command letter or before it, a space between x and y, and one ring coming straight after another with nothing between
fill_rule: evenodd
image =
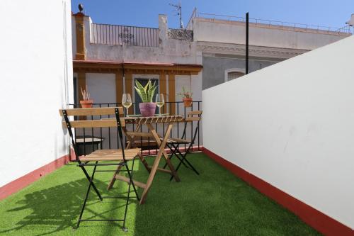
<instances>
[{"instance_id":1,"label":"chair's dark shadow on the sunlit artificial grass at left","mask_svg":"<svg viewBox=\"0 0 354 236\"><path fill-rule=\"evenodd\" d=\"M99 191L100 189L105 189L107 186L107 183L99 181L98 179L96 179L94 183ZM76 226L88 186L89 181L87 181L87 179L79 179L26 194L21 201L16 202L16 206L18 207L7 210L9 213L17 212L18 214L25 215L25 217L16 223L16 227L6 230L4 230L4 228L0 229L0 234L16 231L21 234L23 227L35 228L49 226L51 228L50 231L39 234L49 235L65 230L68 227ZM125 204L116 204L114 207L111 206L108 208L109 210L106 210L106 208L95 208L96 203L100 204L101 201L98 200L96 193L91 189L84 212L86 219L105 219L107 215L111 215L111 212L117 211L118 208L125 206ZM28 213L29 211L30 213ZM89 215L89 217L87 217L87 215ZM54 229L52 230L53 227Z\"/></svg>"}]
</instances>

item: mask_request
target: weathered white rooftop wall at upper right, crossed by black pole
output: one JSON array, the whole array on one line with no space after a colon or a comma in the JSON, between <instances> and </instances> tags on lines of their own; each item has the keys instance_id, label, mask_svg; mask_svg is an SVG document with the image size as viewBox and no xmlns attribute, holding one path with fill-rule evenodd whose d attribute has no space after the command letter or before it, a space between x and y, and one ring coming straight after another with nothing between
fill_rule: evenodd
<instances>
[{"instance_id":1,"label":"weathered white rooftop wall at upper right, crossed by black pole","mask_svg":"<svg viewBox=\"0 0 354 236\"><path fill-rule=\"evenodd\" d=\"M245 44L245 23L239 21L195 18L193 29L195 41ZM313 50L346 37L348 34L338 35L326 31L304 32L300 29L270 28L253 23L249 26L249 44L256 46Z\"/></svg>"}]
</instances>

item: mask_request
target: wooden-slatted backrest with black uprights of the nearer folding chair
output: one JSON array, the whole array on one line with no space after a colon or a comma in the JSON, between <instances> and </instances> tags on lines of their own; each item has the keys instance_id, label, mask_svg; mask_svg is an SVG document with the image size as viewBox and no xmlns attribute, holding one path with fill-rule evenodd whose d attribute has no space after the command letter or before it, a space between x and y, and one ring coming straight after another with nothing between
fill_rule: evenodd
<instances>
[{"instance_id":1,"label":"wooden-slatted backrest with black uprights of the nearer folding chair","mask_svg":"<svg viewBox=\"0 0 354 236\"><path fill-rule=\"evenodd\" d=\"M79 160L79 152L76 147L74 135L72 133L73 128L118 128L118 142L120 142L120 147L122 147L122 150L124 149L122 140L122 127L125 127L125 121L121 119L124 114L122 107L69 108L60 109L59 113L60 116L64 118L63 125L67 127L69 135L72 139L72 145L76 154L76 160ZM102 116L110 115L113 115L114 118L101 118ZM70 116L91 116L92 118L93 116L99 116L100 118L96 120L70 120Z\"/></svg>"}]
</instances>

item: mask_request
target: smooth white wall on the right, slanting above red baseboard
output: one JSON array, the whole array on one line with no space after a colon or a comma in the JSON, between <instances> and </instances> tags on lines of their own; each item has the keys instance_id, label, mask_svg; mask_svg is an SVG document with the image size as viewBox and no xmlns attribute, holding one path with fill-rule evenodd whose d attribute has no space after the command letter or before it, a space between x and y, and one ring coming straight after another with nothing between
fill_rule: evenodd
<instances>
[{"instance_id":1,"label":"smooth white wall on the right, slanting above red baseboard","mask_svg":"<svg viewBox=\"0 0 354 236\"><path fill-rule=\"evenodd\" d=\"M354 36L202 91L203 145L354 228Z\"/></svg>"}]
</instances>

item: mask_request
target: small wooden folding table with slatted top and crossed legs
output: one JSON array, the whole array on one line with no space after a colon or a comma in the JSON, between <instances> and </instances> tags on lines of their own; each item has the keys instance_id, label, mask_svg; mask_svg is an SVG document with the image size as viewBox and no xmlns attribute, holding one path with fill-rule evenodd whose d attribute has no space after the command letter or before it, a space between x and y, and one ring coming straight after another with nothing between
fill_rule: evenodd
<instances>
[{"instance_id":1,"label":"small wooden folding table with slatted top and crossed legs","mask_svg":"<svg viewBox=\"0 0 354 236\"><path fill-rule=\"evenodd\" d=\"M142 161L142 163L144 164L144 167L149 172L149 178L147 179L146 184L141 183L139 181L134 181L135 186L138 186L138 187L144 189L142 196L140 198L140 204L144 204L144 202L147 198L147 193L148 193L150 187L152 186L152 181L154 180L154 176L156 174L156 171L171 174L171 176L173 176L173 178L176 179L176 181L178 181L178 182L180 181L175 169L173 168L173 165L171 164L169 156L165 151L165 148L166 148L167 139L169 138L169 136L171 134L171 129L173 127L173 124L183 121L183 116L125 117L122 119L125 120L126 124L136 124L137 125L137 128L135 128L134 131L128 131L126 127L122 128L127 139L129 140L129 144L127 145L127 149L135 147L135 138L136 137L152 137L152 139L156 141L156 145L159 147L159 151L156 154L154 164L152 164L151 167L149 166L149 164L147 164L147 161L144 159L142 154L139 153L139 159ZM152 125L154 123L168 124L167 130L164 133L163 138L161 138L159 136L159 134L156 132L154 126ZM149 128L149 132L147 132L147 133L139 132L139 129L142 125L147 125L147 128ZM161 160L162 155L164 155L164 158L166 160L167 165L169 166L169 169L159 168L159 162ZM129 181L125 176L119 175L120 168L121 167L118 167L117 172L115 172L113 178L110 181L110 184L108 185L108 189L111 189L113 187L115 179L120 179L122 181Z\"/></svg>"}]
</instances>

